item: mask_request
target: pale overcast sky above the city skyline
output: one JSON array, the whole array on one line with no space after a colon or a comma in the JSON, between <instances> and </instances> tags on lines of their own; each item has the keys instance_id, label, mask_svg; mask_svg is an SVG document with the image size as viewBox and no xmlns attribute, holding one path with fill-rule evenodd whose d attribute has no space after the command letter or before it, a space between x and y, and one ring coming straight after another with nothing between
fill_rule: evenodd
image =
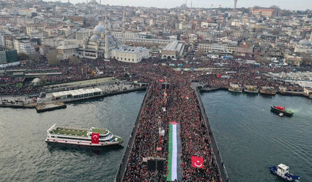
<instances>
[{"instance_id":1,"label":"pale overcast sky above the city skyline","mask_svg":"<svg viewBox=\"0 0 312 182\"><path fill-rule=\"evenodd\" d=\"M45 0L48 1L48 0ZM56 0L50 0L56 1ZM61 0L67 2L67 0ZM87 0L70 0L71 3L86 2ZM97 0L99 2L99 0ZM129 6L145 6L172 8L185 3L185 0L101 0L102 4L110 5L129 5ZM193 0L193 7L210 8L214 7L233 7L234 0ZM187 0L188 7L191 6L191 0ZM262 7L270 7L277 5L281 9L290 10L306 10L312 9L312 0L237 0L237 7L253 7L255 5Z\"/></svg>"}]
</instances>

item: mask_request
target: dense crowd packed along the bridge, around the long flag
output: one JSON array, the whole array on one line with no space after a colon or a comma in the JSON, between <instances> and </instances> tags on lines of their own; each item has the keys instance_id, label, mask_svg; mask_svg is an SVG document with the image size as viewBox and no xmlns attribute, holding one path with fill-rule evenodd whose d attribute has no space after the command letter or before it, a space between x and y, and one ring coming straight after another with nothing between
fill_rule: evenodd
<instances>
[{"instance_id":1,"label":"dense crowd packed along the bridge, around the long flag","mask_svg":"<svg viewBox=\"0 0 312 182\"><path fill-rule=\"evenodd\" d=\"M172 69L157 67L155 66L154 70L146 73L152 79L152 83L139 118L137 133L123 181L149 182L155 179L166 181L168 174L168 131L169 123L173 121L178 122L181 127L179 133L181 138L181 181L222 181L211 147L209 133L201 117L195 91L190 86L190 80L181 77L178 72ZM155 76L155 73L158 75ZM164 84L167 84L167 89L165 89L166 86L163 86ZM165 102L164 96L167 98ZM166 107L165 110L163 109L164 106ZM160 145L158 143L158 122L166 131L165 137L161 138ZM148 159L159 155L156 152L157 147L162 149L160 157L167 159L164 171L158 171L158 173L149 171L147 163L143 162L143 158ZM202 169L192 167L192 156L203 157L205 167Z\"/></svg>"}]
</instances>

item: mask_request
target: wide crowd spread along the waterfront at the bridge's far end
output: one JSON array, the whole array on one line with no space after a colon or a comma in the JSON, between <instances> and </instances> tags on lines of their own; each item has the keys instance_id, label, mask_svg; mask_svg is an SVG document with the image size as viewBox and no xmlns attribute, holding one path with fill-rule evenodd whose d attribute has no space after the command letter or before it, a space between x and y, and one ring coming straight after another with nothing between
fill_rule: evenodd
<instances>
[{"instance_id":1,"label":"wide crowd spread along the waterfront at the bridge's far end","mask_svg":"<svg viewBox=\"0 0 312 182\"><path fill-rule=\"evenodd\" d=\"M161 66L166 64L167 66ZM170 67L170 64L175 66ZM42 77L44 85L81 81L87 79L116 77L127 79L128 81L149 82L150 78L157 76L154 70L168 70L171 68L211 68L210 70L182 71L184 79L191 79L200 82L206 87L228 88L230 83L239 83L245 85L270 86L278 89L284 86L290 91L302 91L303 88L296 84L289 84L282 80L271 79L264 75L268 72L290 72L311 71L311 66L283 66L273 67L261 64L246 64L241 60L224 60L222 58L200 58L188 57L183 60L161 60L158 57L151 57L138 64L130 64L111 60L104 61L102 58L95 60L83 59L80 63L71 64L68 61L61 61L56 65L49 65L47 59L42 56L36 63L26 62L18 66L0 68L0 95L28 95L44 91L43 85L31 86L29 79L35 78L27 73L38 73ZM14 75L16 70L23 70L22 75ZM99 70L99 71L98 71ZM226 74L228 71L235 71L236 74ZM99 73L100 72L100 73ZM151 73L149 73L151 72ZM168 71L167 71L168 72ZM41 75L42 73L42 75ZM43 73L59 73L57 75ZM154 75L151 75L154 74ZM217 75L228 75L230 78L217 77ZM169 76L169 75L167 75ZM28 82L26 82L28 81Z\"/></svg>"}]
</instances>

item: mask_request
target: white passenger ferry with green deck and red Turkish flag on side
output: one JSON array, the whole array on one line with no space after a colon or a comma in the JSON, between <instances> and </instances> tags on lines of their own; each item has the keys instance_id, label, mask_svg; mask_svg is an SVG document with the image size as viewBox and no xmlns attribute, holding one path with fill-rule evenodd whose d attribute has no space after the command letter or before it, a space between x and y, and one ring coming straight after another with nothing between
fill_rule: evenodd
<instances>
[{"instance_id":1,"label":"white passenger ferry with green deck and red Turkish flag on side","mask_svg":"<svg viewBox=\"0 0 312 182\"><path fill-rule=\"evenodd\" d=\"M122 138L113 135L107 129L102 128L70 128L60 127L54 124L47 130L46 142L74 144L82 146L108 146L119 145L123 142Z\"/></svg>"}]
</instances>

